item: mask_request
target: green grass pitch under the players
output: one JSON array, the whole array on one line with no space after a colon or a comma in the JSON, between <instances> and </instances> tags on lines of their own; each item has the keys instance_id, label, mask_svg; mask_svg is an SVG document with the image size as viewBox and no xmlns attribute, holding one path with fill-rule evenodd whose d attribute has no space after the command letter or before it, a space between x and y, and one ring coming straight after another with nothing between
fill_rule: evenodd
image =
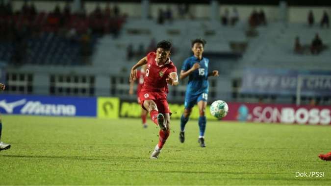
<instances>
[{"instance_id":1,"label":"green grass pitch under the players","mask_svg":"<svg viewBox=\"0 0 331 186\"><path fill-rule=\"evenodd\" d=\"M0 185L330 185L331 126L207 122L206 148L190 120L185 143L179 121L159 160L149 156L158 141L151 122L1 116ZM324 172L324 177L296 177Z\"/></svg>"}]
</instances>

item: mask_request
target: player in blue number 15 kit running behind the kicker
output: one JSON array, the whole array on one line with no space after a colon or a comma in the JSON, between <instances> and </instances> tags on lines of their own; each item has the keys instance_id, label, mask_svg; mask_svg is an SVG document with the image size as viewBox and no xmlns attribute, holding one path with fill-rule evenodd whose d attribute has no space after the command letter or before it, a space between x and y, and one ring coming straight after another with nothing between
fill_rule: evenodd
<instances>
[{"instance_id":1,"label":"player in blue number 15 kit running behind the kicker","mask_svg":"<svg viewBox=\"0 0 331 186\"><path fill-rule=\"evenodd\" d=\"M209 60L203 57L204 45L206 42L204 39L195 39L192 41L193 56L187 58L180 71L180 79L184 79L189 76L186 94L185 94L185 110L180 118L180 133L179 140L184 142L185 140L185 125L192 112L192 108L195 104L198 104L199 108L199 129L200 135L198 142L201 147L205 147L204 144L204 131L206 128L205 108L207 106L208 99L208 77L218 76L218 71L213 70L208 73Z\"/></svg>"}]
</instances>

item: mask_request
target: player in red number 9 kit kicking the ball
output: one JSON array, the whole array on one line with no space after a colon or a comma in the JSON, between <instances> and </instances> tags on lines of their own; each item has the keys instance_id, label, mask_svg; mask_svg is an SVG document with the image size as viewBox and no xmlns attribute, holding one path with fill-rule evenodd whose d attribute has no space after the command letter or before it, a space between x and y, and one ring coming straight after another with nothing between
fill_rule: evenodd
<instances>
[{"instance_id":1,"label":"player in red number 9 kit kicking the ball","mask_svg":"<svg viewBox=\"0 0 331 186\"><path fill-rule=\"evenodd\" d=\"M168 84L178 85L176 66L170 60L172 44L161 41L156 52L150 52L135 64L130 73L130 82L137 78L137 68L147 65L143 87L139 93L142 108L150 113L153 122L160 127L159 142L151 155L158 159L161 149L169 137L170 110L167 102Z\"/></svg>"}]
</instances>

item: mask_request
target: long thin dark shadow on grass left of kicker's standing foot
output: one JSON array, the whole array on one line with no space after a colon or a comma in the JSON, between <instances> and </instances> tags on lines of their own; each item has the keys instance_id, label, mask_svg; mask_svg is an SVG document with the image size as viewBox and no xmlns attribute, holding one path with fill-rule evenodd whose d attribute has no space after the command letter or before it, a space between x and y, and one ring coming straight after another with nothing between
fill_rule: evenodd
<instances>
[{"instance_id":1,"label":"long thin dark shadow on grass left of kicker's standing foot","mask_svg":"<svg viewBox=\"0 0 331 186\"><path fill-rule=\"evenodd\" d=\"M97 156L97 157L81 157L81 156L32 156L32 155L0 155L0 157L8 158L37 158L37 159L63 159L63 160L94 160L94 161L103 161L103 160L119 160L119 159L140 159L138 157L114 157L114 156Z\"/></svg>"}]
</instances>

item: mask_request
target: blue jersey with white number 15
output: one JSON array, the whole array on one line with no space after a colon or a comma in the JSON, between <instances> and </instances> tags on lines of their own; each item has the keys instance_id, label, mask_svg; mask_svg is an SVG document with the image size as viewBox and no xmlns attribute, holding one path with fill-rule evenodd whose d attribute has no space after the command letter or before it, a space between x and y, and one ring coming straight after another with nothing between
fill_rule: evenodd
<instances>
[{"instance_id":1,"label":"blue jersey with white number 15","mask_svg":"<svg viewBox=\"0 0 331 186\"><path fill-rule=\"evenodd\" d=\"M187 71L190 70L195 63L200 63L200 68L194 70L189 75L186 95L198 95L202 93L208 93L208 63L209 59L203 57L201 60L196 58L194 55L187 58L184 61L184 64L181 70Z\"/></svg>"}]
</instances>

